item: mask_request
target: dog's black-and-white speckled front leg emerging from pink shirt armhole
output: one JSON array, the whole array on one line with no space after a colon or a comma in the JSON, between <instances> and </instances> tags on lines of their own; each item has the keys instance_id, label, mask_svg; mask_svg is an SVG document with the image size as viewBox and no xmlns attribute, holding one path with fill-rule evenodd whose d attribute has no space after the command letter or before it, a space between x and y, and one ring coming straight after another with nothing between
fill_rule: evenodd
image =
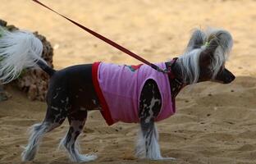
<instances>
[{"instance_id":1,"label":"dog's black-and-white speckled front leg emerging from pink shirt armhole","mask_svg":"<svg viewBox=\"0 0 256 164\"><path fill-rule=\"evenodd\" d=\"M158 130L154 119L158 116L162 102L158 84L154 80L147 80L139 97L140 131L136 146L136 156L152 160L171 159L162 157L158 144Z\"/></svg>"}]
</instances>

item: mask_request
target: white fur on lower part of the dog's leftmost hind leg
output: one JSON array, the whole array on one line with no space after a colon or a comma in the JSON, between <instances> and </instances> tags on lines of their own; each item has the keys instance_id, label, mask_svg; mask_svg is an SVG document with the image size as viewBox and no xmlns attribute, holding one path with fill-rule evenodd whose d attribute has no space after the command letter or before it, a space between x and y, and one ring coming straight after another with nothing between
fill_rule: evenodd
<instances>
[{"instance_id":1,"label":"white fur on lower part of the dog's leftmost hind leg","mask_svg":"<svg viewBox=\"0 0 256 164\"><path fill-rule=\"evenodd\" d=\"M29 143L21 154L22 161L31 161L34 159L39 147L39 143L43 138L43 134L45 134L47 131L48 124L35 124L32 126L32 129L30 130Z\"/></svg>"}]
</instances>

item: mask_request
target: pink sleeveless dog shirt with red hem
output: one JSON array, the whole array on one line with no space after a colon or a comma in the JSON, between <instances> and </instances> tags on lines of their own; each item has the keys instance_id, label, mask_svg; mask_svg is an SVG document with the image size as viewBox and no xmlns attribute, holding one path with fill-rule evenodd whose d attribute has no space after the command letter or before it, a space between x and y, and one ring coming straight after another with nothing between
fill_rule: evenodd
<instances>
[{"instance_id":1,"label":"pink sleeveless dog shirt with red hem","mask_svg":"<svg viewBox=\"0 0 256 164\"><path fill-rule=\"evenodd\" d=\"M164 62L157 66L166 69ZM176 112L167 74L147 65L119 66L103 62L95 62L92 71L94 88L107 125L117 121L139 122L139 97L145 81L149 79L156 81L162 98L162 107L155 121L166 119Z\"/></svg>"}]
</instances>

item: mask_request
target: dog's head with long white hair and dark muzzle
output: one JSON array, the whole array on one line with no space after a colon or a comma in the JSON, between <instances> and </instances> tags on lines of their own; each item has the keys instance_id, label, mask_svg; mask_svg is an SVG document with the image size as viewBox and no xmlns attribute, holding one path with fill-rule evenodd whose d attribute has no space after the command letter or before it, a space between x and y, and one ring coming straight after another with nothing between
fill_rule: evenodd
<instances>
[{"instance_id":1,"label":"dog's head with long white hair and dark muzzle","mask_svg":"<svg viewBox=\"0 0 256 164\"><path fill-rule=\"evenodd\" d=\"M180 58L181 71L189 84L214 81L229 84L235 75L225 67L233 40L226 30L194 30L185 54Z\"/></svg>"}]
</instances>

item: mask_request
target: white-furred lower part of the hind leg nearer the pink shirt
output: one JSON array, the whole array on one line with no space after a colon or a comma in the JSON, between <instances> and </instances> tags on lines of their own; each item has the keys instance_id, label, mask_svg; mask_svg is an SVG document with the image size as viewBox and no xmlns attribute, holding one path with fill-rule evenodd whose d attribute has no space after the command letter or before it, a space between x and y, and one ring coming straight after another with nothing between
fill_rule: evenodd
<instances>
[{"instance_id":1,"label":"white-furred lower part of the hind leg nearer the pink shirt","mask_svg":"<svg viewBox=\"0 0 256 164\"><path fill-rule=\"evenodd\" d=\"M74 143L73 138L70 141L67 141L67 134L66 137L62 139L59 148L64 147L66 151L69 153L72 162L89 162L94 161L97 156L96 155L89 155L89 154L80 154L79 153L79 144Z\"/></svg>"}]
</instances>

